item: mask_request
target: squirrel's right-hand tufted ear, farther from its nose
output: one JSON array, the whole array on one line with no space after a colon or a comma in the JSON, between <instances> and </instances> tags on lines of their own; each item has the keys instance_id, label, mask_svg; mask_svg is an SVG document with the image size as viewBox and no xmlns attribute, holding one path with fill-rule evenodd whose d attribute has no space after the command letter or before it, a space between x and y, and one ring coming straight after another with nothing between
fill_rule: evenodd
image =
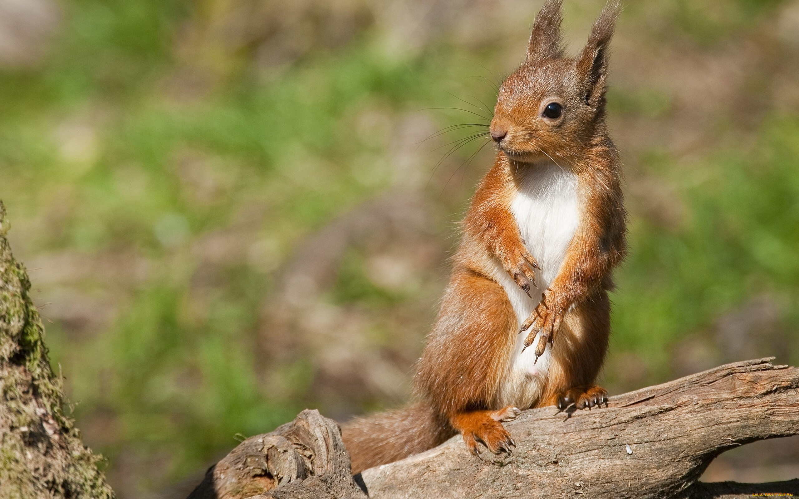
<instances>
[{"instance_id":1,"label":"squirrel's right-hand tufted ear, farther from its nose","mask_svg":"<svg viewBox=\"0 0 799 499\"><path fill-rule=\"evenodd\" d=\"M621 11L622 6L618 0L610 0L606 4L602 14L594 22L588 43L577 57L577 73L583 85L583 99L594 109L605 98L610 38L613 38L616 19Z\"/></svg>"}]
</instances>

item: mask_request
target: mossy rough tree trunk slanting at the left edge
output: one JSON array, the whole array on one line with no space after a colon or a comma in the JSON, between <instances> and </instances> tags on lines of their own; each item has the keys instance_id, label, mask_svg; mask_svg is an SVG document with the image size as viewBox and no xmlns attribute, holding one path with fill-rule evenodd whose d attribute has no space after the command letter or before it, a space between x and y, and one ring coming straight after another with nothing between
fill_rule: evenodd
<instances>
[{"instance_id":1,"label":"mossy rough tree trunk slanting at the left edge","mask_svg":"<svg viewBox=\"0 0 799 499\"><path fill-rule=\"evenodd\" d=\"M0 499L113 497L64 414L62 380L50 367L44 327L25 267L6 240L0 202Z\"/></svg>"}]
</instances>

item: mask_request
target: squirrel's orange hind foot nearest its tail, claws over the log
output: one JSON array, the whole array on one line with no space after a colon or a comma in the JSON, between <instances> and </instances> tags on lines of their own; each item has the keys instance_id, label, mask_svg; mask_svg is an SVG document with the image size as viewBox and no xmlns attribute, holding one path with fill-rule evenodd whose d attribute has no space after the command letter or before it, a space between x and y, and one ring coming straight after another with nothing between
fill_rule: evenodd
<instances>
[{"instance_id":1,"label":"squirrel's orange hind foot nearest its tail, claws over the log","mask_svg":"<svg viewBox=\"0 0 799 499\"><path fill-rule=\"evenodd\" d=\"M502 426L503 421L515 419L521 411L513 406L500 410L470 410L455 414L451 424L463 435L463 442L471 453L479 456L479 443L491 453L511 453L516 443L510 432Z\"/></svg>"}]
</instances>

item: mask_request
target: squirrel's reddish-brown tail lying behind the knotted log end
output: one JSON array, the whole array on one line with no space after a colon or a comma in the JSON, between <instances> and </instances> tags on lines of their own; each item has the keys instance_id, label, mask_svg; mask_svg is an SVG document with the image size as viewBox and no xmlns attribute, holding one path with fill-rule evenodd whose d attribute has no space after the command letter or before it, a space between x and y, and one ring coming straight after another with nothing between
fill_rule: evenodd
<instances>
[{"instance_id":1,"label":"squirrel's reddish-brown tail lying behind the knotted log end","mask_svg":"<svg viewBox=\"0 0 799 499\"><path fill-rule=\"evenodd\" d=\"M355 418L341 428L352 474L432 449L455 433L446 419L424 402Z\"/></svg>"}]
</instances>

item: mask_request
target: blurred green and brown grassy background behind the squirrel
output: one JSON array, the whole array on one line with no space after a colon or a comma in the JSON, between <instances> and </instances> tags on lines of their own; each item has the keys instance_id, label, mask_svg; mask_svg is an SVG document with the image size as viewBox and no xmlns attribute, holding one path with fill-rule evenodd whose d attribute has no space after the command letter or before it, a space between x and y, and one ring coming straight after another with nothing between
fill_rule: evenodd
<instances>
[{"instance_id":1,"label":"blurred green and brown grassy background behind the squirrel","mask_svg":"<svg viewBox=\"0 0 799 499\"><path fill-rule=\"evenodd\" d=\"M0 0L0 199L118 497L185 497L305 407L403 402L541 4ZM566 0L573 53L601 7ZM797 365L799 1L629 0L610 85L602 383ZM705 475L793 477L797 439Z\"/></svg>"}]
</instances>

